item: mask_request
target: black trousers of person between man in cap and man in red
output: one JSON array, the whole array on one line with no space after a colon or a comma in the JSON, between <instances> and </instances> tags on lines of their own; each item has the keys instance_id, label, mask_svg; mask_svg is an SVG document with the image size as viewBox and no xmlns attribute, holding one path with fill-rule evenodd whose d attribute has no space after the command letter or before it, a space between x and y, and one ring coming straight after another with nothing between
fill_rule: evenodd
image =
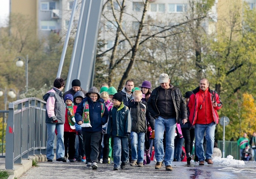
<instances>
[{"instance_id":1,"label":"black trousers of person between man in cap and man in red","mask_svg":"<svg viewBox=\"0 0 256 179\"><path fill-rule=\"evenodd\" d=\"M186 153L190 152L192 155L193 143L195 139L195 129L181 128L181 131L185 140L185 151Z\"/></svg>"}]
</instances>

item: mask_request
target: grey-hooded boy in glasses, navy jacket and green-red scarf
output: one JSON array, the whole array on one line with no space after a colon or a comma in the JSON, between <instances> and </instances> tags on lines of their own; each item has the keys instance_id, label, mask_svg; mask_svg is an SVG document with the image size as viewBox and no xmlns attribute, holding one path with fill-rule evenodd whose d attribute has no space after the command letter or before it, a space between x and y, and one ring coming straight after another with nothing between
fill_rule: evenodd
<instances>
[{"instance_id":1,"label":"grey-hooded boy in glasses, navy jacket and green-red scarf","mask_svg":"<svg viewBox=\"0 0 256 179\"><path fill-rule=\"evenodd\" d=\"M104 100L100 99L99 91L92 87L85 94L84 100L78 105L75 113L75 121L82 127L84 137L86 168L98 168L99 140L102 133L102 125L108 120L108 109ZM89 144L89 145L88 145Z\"/></svg>"}]
</instances>

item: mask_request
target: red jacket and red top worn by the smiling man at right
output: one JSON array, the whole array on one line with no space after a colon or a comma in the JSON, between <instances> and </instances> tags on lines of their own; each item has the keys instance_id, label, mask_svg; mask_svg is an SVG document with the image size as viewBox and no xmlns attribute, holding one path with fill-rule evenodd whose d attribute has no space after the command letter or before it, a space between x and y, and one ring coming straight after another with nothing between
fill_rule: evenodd
<instances>
[{"instance_id":1,"label":"red jacket and red top worn by the smiling man at right","mask_svg":"<svg viewBox=\"0 0 256 179\"><path fill-rule=\"evenodd\" d=\"M188 108L190 111L189 122L195 124L210 124L215 122L219 123L219 116L217 110L222 107L220 96L216 91L211 90L209 87L205 92L200 90L199 87L194 89L193 94L189 98ZM217 102L217 106L212 106L213 100ZM200 109L201 108L201 109Z\"/></svg>"}]
</instances>

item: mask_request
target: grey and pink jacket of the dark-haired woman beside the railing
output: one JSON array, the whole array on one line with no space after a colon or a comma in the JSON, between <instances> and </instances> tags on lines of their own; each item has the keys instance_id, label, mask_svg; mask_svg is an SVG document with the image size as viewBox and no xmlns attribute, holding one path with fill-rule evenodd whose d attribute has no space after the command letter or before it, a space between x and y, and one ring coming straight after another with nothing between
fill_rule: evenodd
<instances>
[{"instance_id":1,"label":"grey and pink jacket of the dark-haired woman beside the railing","mask_svg":"<svg viewBox=\"0 0 256 179\"><path fill-rule=\"evenodd\" d=\"M45 123L53 123L58 120L58 124L65 123L65 103L62 98L62 91L53 87L43 96L46 101Z\"/></svg>"}]
</instances>

